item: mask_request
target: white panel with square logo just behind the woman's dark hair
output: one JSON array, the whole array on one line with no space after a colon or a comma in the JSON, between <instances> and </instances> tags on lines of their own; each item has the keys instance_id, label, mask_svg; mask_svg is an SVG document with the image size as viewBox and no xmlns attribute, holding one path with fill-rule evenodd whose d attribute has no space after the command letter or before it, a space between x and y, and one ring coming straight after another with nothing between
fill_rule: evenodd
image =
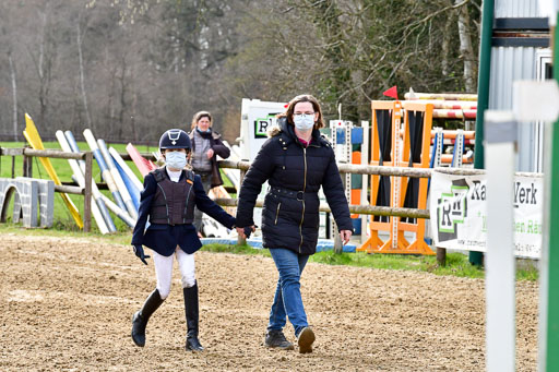
<instances>
[{"instance_id":1,"label":"white panel with square logo just behind the woman's dark hair","mask_svg":"<svg viewBox=\"0 0 559 372\"><path fill-rule=\"evenodd\" d=\"M285 103L242 99L240 136L241 157L254 160L260 147L267 140L266 131L276 123L275 116L285 111Z\"/></svg>"}]
</instances>

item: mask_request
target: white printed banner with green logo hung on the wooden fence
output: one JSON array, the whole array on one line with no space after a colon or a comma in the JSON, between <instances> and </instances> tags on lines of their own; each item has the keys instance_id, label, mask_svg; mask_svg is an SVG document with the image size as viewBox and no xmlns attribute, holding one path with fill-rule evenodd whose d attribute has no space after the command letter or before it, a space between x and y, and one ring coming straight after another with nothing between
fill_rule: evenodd
<instances>
[{"instance_id":1,"label":"white printed banner with green logo hung on the wooden fence","mask_svg":"<svg viewBox=\"0 0 559 372\"><path fill-rule=\"evenodd\" d=\"M437 247L486 251L485 176L433 171L430 185L431 228ZM539 259L543 235L544 179L514 177L514 245L516 256ZM490 249L490 248L489 248Z\"/></svg>"}]
</instances>

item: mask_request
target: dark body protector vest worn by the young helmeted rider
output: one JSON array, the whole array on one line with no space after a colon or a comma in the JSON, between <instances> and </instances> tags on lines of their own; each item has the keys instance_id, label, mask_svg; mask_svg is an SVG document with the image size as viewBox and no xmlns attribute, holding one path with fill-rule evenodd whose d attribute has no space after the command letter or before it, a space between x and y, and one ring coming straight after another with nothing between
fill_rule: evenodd
<instances>
[{"instance_id":1,"label":"dark body protector vest worn by the young helmeted rider","mask_svg":"<svg viewBox=\"0 0 559 372\"><path fill-rule=\"evenodd\" d=\"M194 220L194 173L186 172L186 179L173 182L165 168L155 169L152 175L157 181L157 191L150 211L151 224L186 225Z\"/></svg>"}]
</instances>

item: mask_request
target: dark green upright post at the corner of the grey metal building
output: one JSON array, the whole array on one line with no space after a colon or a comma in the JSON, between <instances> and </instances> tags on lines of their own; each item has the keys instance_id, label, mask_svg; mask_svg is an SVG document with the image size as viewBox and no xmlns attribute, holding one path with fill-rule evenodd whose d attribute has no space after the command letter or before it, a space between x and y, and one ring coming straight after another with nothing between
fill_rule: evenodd
<instances>
[{"instance_id":1,"label":"dark green upright post at the corner of the grey metal building","mask_svg":"<svg viewBox=\"0 0 559 372\"><path fill-rule=\"evenodd\" d=\"M489 107L489 80L491 77L491 36L493 34L495 0L484 0L481 11L481 40L479 43L479 73L477 76L476 145L474 168L484 168L484 112ZM469 251L469 263L481 265L484 254Z\"/></svg>"}]
</instances>

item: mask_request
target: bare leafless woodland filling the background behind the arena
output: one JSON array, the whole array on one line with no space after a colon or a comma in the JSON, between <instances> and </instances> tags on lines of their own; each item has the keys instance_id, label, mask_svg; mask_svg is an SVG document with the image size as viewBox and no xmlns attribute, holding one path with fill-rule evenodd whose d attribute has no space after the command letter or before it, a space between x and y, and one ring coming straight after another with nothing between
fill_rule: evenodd
<instances>
[{"instance_id":1,"label":"bare leafless woodland filling the background behind the arena","mask_svg":"<svg viewBox=\"0 0 559 372\"><path fill-rule=\"evenodd\" d=\"M0 141L84 128L156 144L199 110L239 135L242 98L317 96L370 120L397 85L475 93L480 0L2 0Z\"/></svg>"}]
</instances>

